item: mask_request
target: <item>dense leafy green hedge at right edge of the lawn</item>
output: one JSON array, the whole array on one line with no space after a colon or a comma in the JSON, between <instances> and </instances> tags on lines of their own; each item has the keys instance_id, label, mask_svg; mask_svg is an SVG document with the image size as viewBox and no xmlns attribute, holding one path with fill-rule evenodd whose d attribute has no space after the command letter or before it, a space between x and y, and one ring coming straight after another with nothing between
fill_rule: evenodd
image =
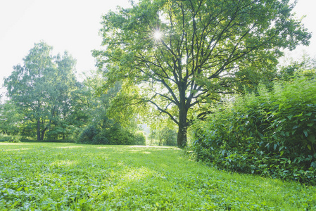
<instances>
[{"instance_id":1,"label":"dense leafy green hedge at right edge of the lawn","mask_svg":"<svg viewBox=\"0 0 316 211\"><path fill-rule=\"evenodd\" d=\"M316 81L260 86L197 122L198 160L236 172L316 184Z\"/></svg>"}]
</instances>

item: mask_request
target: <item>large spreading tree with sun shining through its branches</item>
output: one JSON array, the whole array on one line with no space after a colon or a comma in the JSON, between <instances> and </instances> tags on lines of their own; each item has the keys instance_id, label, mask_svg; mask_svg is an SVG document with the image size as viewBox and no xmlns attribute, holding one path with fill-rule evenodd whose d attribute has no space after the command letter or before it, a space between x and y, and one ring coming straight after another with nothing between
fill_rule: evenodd
<instances>
[{"instance_id":1,"label":"large spreading tree with sun shining through its branches","mask_svg":"<svg viewBox=\"0 0 316 211\"><path fill-rule=\"evenodd\" d=\"M103 16L103 51L108 89L122 82L115 103L149 103L187 127L209 112L209 104L234 93L236 82L264 75L282 49L308 44L310 33L291 13L289 0L141 0Z\"/></svg>"}]
</instances>

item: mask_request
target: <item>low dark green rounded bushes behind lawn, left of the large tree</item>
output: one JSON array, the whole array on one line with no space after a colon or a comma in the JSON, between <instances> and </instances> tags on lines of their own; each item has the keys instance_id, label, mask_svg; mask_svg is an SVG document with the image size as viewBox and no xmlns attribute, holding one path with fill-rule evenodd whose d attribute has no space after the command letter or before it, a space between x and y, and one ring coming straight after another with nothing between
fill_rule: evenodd
<instances>
[{"instance_id":1,"label":"low dark green rounded bushes behind lawn, left of the large tree","mask_svg":"<svg viewBox=\"0 0 316 211\"><path fill-rule=\"evenodd\" d=\"M77 143L146 145L146 138L142 132L133 134L128 129L120 126L120 124L113 124L106 129L99 129L94 124L91 124L80 134Z\"/></svg>"}]
</instances>

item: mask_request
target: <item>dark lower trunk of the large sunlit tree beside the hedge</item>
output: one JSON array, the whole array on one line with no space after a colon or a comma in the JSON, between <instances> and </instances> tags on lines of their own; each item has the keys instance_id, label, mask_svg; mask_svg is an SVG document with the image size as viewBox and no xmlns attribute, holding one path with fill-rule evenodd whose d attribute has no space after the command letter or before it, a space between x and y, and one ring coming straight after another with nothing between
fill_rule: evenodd
<instances>
[{"instance_id":1,"label":"dark lower trunk of the large sunlit tree beside the hedge","mask_svg":"<svg viewBox=\"0 0 316 211\"><path fill-rule=\"evenodd\" d=\"M187 109L182 108L179 110L179 124L177 134L177 145L179 148L187 146Z\"/></svg>"}]
</instances>

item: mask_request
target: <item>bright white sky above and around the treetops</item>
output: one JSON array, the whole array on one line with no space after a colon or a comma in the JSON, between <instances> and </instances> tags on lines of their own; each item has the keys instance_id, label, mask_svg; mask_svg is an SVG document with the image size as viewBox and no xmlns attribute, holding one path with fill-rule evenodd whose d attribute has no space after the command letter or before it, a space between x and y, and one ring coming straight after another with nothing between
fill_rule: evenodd
<instances>
[{"instance_id":1,"label":"bright white sky above and around the treetops","mask_svg":"<svg viewBox=\"0 0 316 211\"><path fill-rule=\"evenodd\" d=\"M77 72L94 70L92 49L99 49L101 15L116 6L129 6L128 0L0 0L0 86L11 75L13 65L40 40L53 46L53 54L67 50L77 59ZM298 0L295 11L315 36L310 46L298 47L291 56L298 58L303 49L316 56L316 1ZM4 89L0 89L1 92Z\"/></svg>"}]
</instances>

